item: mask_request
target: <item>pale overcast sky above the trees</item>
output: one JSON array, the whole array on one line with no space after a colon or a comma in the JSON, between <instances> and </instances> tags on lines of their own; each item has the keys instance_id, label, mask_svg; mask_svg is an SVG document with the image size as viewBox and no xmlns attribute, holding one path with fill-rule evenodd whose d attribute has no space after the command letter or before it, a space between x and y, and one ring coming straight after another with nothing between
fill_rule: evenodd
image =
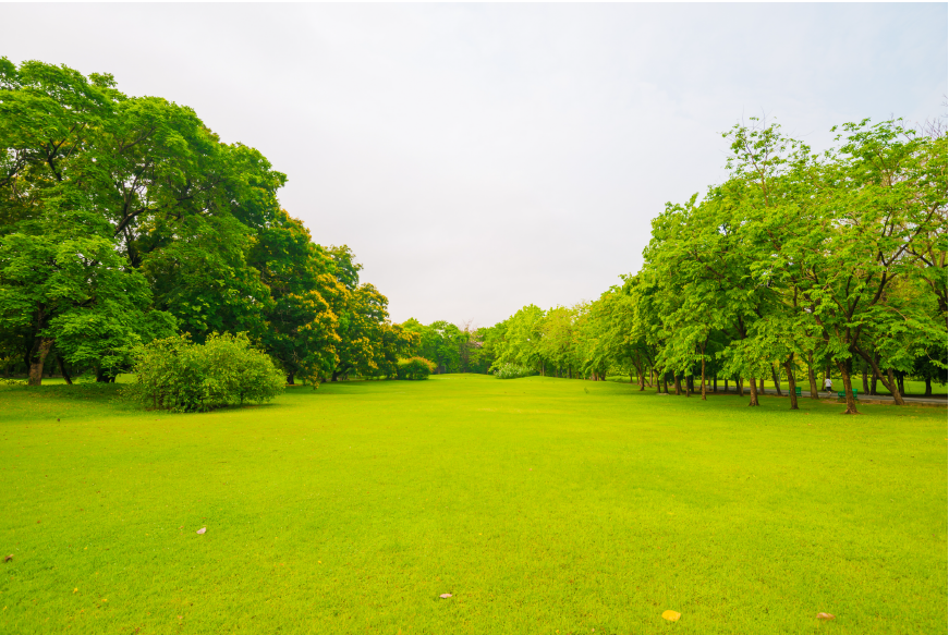
<instances>
[{"instance_id":1,"label":"pale overcast sky above the trees","mask_svg":"<svg viewBox=\"0 0 949 635\"><path fill-rule=\"evenodd\" d=\"M721 133L946 114L946 3L0 4L0 56L112 73L284 172L393 321L597 298Z\"/></svg>"}]
</instances>

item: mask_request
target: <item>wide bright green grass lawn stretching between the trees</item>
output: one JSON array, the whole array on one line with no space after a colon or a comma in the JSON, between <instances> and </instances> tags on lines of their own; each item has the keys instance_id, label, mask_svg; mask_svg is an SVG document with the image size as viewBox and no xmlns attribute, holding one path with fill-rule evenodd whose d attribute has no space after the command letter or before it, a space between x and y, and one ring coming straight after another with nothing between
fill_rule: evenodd
<instances>
[{"instance_id":1,"label":"wide bright green grass lawn stretching between the trees","mask_svg":"<svg viewBox=\"0 0 949 635\"><path fill-rule=\"evenodd\" d=\"M439 376L168 415L114 390L0 388L0 633L946 630L945 408Z\"/></svg>"}]
</instances>

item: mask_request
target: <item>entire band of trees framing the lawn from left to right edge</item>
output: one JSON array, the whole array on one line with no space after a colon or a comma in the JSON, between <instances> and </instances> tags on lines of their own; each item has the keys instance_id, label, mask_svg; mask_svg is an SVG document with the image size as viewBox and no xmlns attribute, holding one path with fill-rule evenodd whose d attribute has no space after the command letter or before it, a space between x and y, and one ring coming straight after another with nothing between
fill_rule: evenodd
<instances>
[{"instance_id":1,"label":"entire band of trees framing the lawn from left to right edge","mask_svg":"<svg viewBox=\"0 0 949 635\"><path fill-rule=\"evenodd\" d=\"M834 368L897 403L946 380L947 135L850 123L815 152L752 120L726 133L728 178L667 204L644 265L593 302L528 305L488 328L392 323L345 246L280 207L287 176L190 108L0 59L0 364L38 384L113 381L141 346L245 333L285 380L437 373L622 373L705 395L764 379L794 398ZM429 364L430 363L430 364ZM867 379L869 378L869 379ZM869 381L869 387L867 382Z\"/></svg>"}]
</instances>

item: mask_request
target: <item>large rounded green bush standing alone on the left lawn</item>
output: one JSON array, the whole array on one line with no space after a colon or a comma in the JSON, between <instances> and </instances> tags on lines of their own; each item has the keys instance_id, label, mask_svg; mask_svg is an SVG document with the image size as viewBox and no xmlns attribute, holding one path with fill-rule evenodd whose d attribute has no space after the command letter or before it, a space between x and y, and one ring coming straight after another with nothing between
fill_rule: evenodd
<instances>
[{"instance_id":1,"label":"large rounded green bush standing alone on the left lawn","mask_svg":"<svg viewBox=\"0 0 949 635\"><path fill-rule=\"evenodd\" d=\"M135 353L137 383L127 396L159 410L206 412L247 402L265 402L283 391L284 378L246 333L217 333L204 344L186 337L155 340Z\"/></svg>"}]
</instances>

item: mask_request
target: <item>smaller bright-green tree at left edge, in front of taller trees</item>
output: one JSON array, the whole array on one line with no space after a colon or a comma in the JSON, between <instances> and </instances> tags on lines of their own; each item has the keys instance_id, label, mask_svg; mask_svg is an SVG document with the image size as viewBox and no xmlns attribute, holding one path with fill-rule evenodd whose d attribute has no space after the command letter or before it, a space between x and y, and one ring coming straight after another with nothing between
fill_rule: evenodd
<instances>
[{"instance_id":1,"label":"smaller bright-green tree at left edge, in front of taller trees","mask_svg":"<svg viewBox=\"0 0 949 635\"><path fill-rule=\"evenodd\" d=\"M73 364L114 379L142 341L163 337L174 319L151 312L146 280L115 253L100 219L72 209L25 220L0 239L0 330L26 350L29 384L39 386L53 345ZM77 231L82 230L82 231Z\"/></svg>"}]
</instances>

